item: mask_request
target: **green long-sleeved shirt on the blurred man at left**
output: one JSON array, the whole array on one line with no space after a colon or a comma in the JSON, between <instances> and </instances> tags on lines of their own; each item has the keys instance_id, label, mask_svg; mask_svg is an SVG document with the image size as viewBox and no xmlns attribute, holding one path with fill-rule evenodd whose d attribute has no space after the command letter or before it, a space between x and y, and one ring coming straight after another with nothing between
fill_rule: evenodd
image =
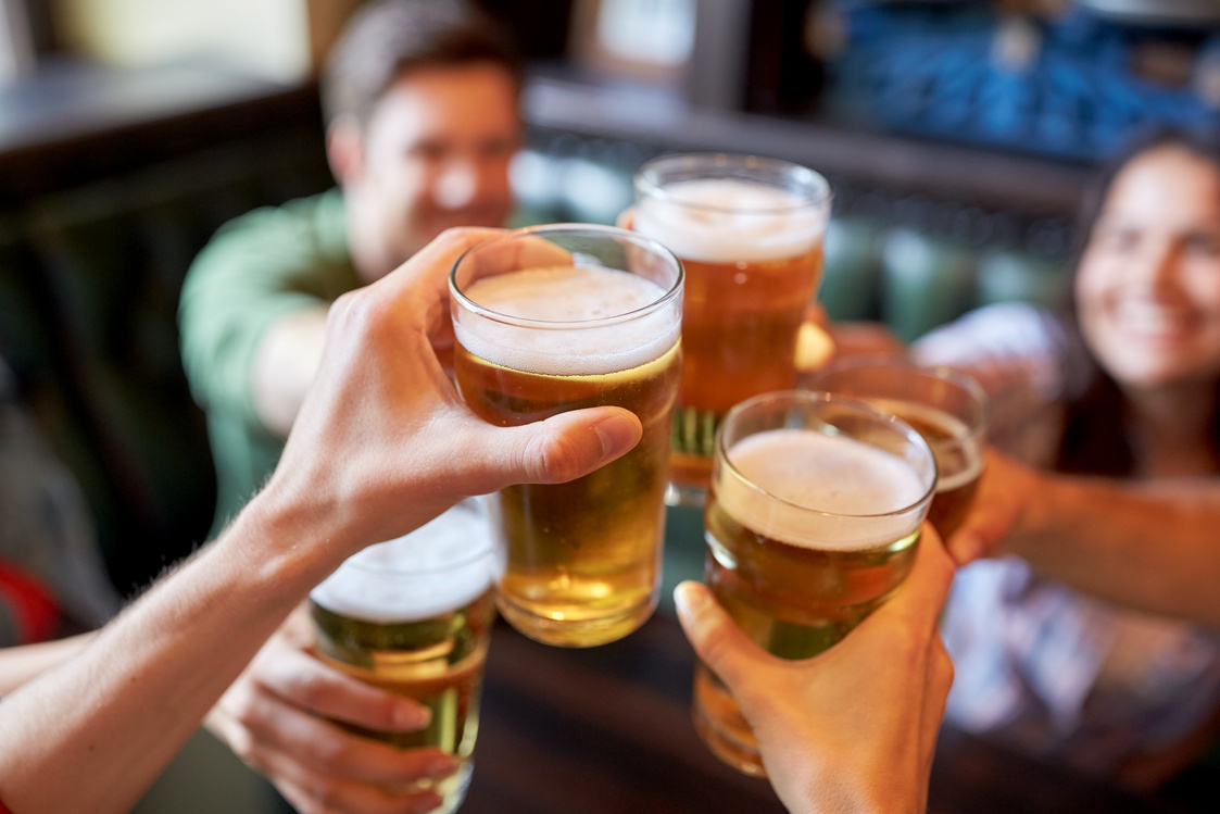
<instances>
[{"instance_id":1,"label":"green long-sleeved shirt on the blurred man at left","mask_svg":"<svg viewBox=\"0 0 1220 814\"><path fill-rule=\"evenodd\" d=\"M262 332L361 284L338 189L226 223L192 265L178 322L187 380L207 414L216 465L212 536L262 487L283 452L283 439L254 405L250 369Z\"/></svg>"}]
</instances>

